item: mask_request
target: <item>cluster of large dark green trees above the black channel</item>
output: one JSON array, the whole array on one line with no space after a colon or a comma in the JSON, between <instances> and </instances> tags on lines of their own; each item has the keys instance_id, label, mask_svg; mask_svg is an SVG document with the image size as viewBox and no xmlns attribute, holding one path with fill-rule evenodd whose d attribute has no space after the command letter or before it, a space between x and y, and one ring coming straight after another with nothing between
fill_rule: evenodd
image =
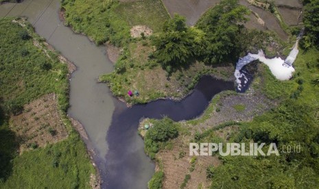
<instances>
[{"instance_id":1,"label":"cluster of large dark green trees above the black channel","mask_svg":"<svg viewBox=\"0 0 319 189\"><path fill-rule=\"evenodd\" d=\"M185 18L175 15L154 38L154 57L165 68L179 66L192 58L219 63L239 48L249 10L237 0L224 0L211 8L196 27L187 27Z\"/></svg>"}]
</instances>

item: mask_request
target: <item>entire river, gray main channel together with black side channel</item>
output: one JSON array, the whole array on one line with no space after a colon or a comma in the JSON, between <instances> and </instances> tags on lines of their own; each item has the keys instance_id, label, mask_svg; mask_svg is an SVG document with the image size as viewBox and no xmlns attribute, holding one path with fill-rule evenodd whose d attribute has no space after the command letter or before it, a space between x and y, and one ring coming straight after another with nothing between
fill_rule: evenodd
<instances>
[{"instance_id":1,"label":"entire river, gray main channel together with black side channel","mask_svg":"<svg viewBox=\"0 0 319 189\"><path fill-rule=\"evenodd\" d=\"M145 155L143 140L137 134L141 118L196 118L215 94L232 90L233 82L203 77L182 101L158 100L127 108L112 96L106 84L97 83L100 74L113 71L106 48L96 47L85 36L65 27L59 9L60 0L25 0L0 5L0 17L26 16L40 36L77 66L70 81L68 114L82 123L95 149L102 188L147 188L154 163Z\"/></svg>"}]
</instances>

